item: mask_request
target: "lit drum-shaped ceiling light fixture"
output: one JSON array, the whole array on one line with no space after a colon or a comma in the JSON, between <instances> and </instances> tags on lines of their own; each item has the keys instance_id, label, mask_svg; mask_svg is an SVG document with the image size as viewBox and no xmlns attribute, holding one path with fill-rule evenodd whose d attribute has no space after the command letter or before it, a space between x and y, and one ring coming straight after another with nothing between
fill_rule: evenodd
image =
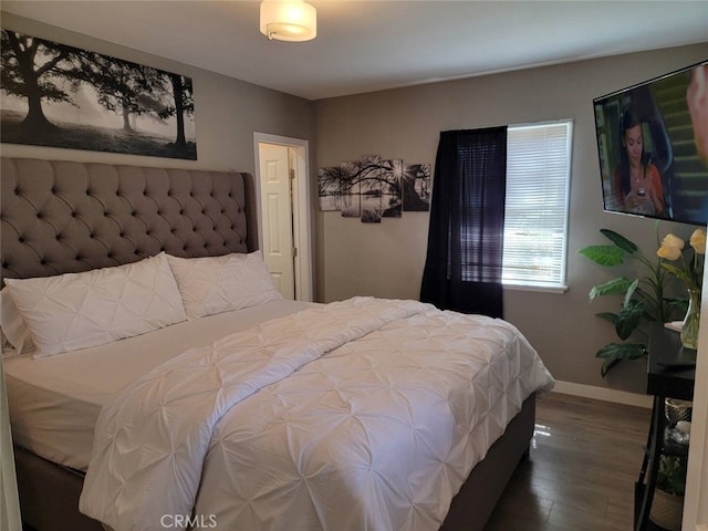
<instances>
[{"instance_id":1,"label":"lit drum-shaped ceiling light fixture","mask_svg":"<svg viewBox=\"0 0 708 531\"><path fill-rule=\"evenodd\" d=\"M263 0L261 33L279 41L310 41L317 35L317 12L304 0Z\"/></svg>"}]
</instances>

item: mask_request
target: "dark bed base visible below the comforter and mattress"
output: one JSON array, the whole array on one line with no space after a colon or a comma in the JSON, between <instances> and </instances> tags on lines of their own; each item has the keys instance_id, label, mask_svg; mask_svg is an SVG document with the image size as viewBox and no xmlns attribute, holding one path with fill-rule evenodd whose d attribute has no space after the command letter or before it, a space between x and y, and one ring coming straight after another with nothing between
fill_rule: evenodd
<instances>
[{"instance_id":1,"label":"dark bed base visible below the comforter and mattress","mask_svg":"<svg viewBox=\"0 0 708 531\"><path fill-rule=\"evenodd\" d=\"M482 531L533 436L535 396L530 396L504 435L489 449L452 500L442 531ZM83 475L14 448L20 509L25 525L38 531L104 531L79 512Z\"/></svg>"}]
</instances>

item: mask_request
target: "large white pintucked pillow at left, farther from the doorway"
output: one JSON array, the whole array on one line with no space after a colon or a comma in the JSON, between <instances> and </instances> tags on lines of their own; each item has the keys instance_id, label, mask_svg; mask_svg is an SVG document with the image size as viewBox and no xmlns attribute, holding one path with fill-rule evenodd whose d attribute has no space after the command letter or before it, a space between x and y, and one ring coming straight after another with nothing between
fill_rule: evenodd
<instances>
[{"instance_id":1,"label":"large white pintucked pillow at left, farther from the doorway","mask_svg":"<svg viewBox=\"0 0 708 531\"><path fill-rule=\"evenodd\" d=\"M103 345L186 320L165 253L37 279L6 279L34 357Z\"/></svg>"}]
</instances>

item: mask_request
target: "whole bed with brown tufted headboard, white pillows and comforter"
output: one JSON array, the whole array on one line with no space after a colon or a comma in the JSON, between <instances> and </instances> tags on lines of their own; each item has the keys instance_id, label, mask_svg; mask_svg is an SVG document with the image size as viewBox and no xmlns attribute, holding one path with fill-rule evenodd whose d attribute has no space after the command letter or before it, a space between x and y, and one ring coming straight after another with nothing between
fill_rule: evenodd
<instances>
[{"instance_id":1,"label":"whole bed with brown tufted headboard, white pillows and comforter","mask_svg":"<svg viewBox=\"0 0 708 531\"><path fill-rule=\"evenodd\" d=\"M1 175L3 332L35 343L3 357L27 524L483 529L553 385L513 326L282 300L248 174L6 157ZM129 285L119 325L106 285Z\"/></svg>"}]
</instances>

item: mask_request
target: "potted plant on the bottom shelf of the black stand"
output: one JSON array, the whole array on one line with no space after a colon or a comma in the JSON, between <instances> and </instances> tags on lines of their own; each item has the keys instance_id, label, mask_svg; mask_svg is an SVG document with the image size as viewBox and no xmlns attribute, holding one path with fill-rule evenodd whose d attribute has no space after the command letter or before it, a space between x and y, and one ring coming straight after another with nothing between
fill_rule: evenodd
<instances>
[{"instance_id":1,"label":"potted plant on the bottom shelf of the black stand","mask_svg":"<svg viewBox=\"0 0 708 531\"><path fill-rule=\"evenodd\" d=\"M688 458L683 456L659 457L649 519L668 531L681 530L687 461Z\"/></svg>"}]
</instances>

